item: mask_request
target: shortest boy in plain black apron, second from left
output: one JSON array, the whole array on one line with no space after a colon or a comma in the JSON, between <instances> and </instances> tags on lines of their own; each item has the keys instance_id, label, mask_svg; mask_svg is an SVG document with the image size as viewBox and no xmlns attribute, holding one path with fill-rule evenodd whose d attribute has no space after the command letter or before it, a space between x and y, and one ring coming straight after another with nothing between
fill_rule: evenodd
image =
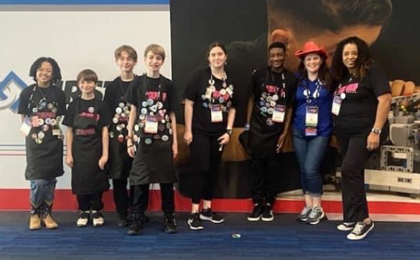
<instances>
[{"instance_id":1,"label":"shortest boy in plain black apron, second from left","mask_svg":"<svg viewBox=\"0 0 420 260\"><path fill-rule=\"evenodd\" d=\"M77 195L80 217L77 226L87 226L92 210L93 225L102 226L102 194L109 189L105 170L108 161L108 126L110 117L103 101L95 95L98 76L90 69L78 75L80 98L67 109L66 164L71 167L71 189Z\"/></svg>"}]
</instances>

